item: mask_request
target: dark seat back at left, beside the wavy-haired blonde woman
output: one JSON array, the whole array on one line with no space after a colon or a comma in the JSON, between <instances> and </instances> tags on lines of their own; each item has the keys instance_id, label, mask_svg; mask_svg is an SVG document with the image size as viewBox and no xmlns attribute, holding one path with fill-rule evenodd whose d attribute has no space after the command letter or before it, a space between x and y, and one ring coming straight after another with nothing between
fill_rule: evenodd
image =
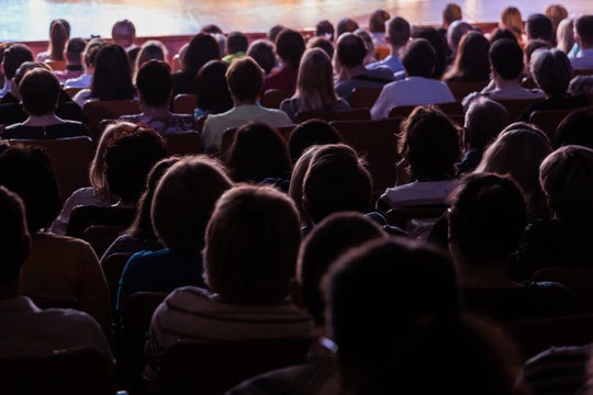
<instances>
[{"instance_id":1,"label":"dark seat back at left, beside the wavy-haired blonde woman","mask_svg":"<svg viewBox=\"0 0 593 395\"><path fill-rule=\"evenodd\" d=\"M45 149L49 157L52 169L56 174L59 195L63 201L74 191L88 187L89 168L92 161L93 147L89 137L69 137L53 139L10 140L10 145L38 146Z\"/></svg>"}]
</instances>

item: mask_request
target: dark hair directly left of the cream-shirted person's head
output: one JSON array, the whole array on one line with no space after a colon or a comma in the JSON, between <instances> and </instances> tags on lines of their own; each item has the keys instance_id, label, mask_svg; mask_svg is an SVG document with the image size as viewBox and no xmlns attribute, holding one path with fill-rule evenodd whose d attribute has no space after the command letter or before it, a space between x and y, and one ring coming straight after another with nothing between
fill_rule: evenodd
<instances>
[{"instance_id":1,"label":"dark hair directly left of the cream-shirted person's head","mask_svg":"<svg viewBox=\"0 0 593 395\"><path fill-rule=\"evenodd\" d=\"M222 60L208 61L195 78L198 108L220 114L233 108L233 99L226 84L228 64Z\"/></svg>"}]
</instances>

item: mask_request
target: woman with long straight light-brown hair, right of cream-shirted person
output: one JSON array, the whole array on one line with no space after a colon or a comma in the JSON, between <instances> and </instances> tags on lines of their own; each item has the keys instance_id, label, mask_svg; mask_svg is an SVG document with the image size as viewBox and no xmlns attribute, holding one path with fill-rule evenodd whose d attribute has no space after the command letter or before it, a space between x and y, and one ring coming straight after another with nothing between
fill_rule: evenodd
<instances>
[{"instance_id":1,"label":"woman with long straight light-brown hair, right of cream-shirted person","mask_svg":"<svg viewBox=\"0 0 593 395\"><path fill-rule=\"evenodd\" d=\"M320 48L307 49L299 67L296 91L280 103L280 110L294 120L304 111L345 111L350 105L336 97L332 59Z\"/></svg>"}]
</instances>

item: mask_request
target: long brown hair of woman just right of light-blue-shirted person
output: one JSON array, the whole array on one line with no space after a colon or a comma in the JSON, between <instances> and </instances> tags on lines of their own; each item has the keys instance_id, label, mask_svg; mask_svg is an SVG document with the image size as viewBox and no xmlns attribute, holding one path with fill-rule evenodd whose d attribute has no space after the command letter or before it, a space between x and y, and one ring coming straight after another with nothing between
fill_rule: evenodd
<instances>
[{"instance_id":1,"label":"long brown hair of woman just right of light-blue-shirted person","mask_svg":"<svg viewBox=\"0 0 593 395\"><path fill-rule=\"evenodd\" d=\"M488 81L490 80L490 42L478 32L469 32L461 37L451 70L446 80Z\"/></svg>"}]
</instances>

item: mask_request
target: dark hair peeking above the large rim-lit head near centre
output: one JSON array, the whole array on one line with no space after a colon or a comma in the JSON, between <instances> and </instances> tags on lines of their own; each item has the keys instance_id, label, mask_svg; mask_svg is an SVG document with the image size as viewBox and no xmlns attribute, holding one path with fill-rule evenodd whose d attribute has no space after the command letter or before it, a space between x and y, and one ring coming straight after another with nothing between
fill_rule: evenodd
<instances>
[{"instance_id":1,"label":"dark hair peeking above the large rim-lit head near centre","mask_svg":"<svg viewBox=\"0 0 593 395\"><path fill-rule=\"evenodd\" d=\"M322 120L307 120L290 133L290 158L295 163L304 150L313 145L338 143L342 143L342 138L334 126Z\"/></svg>"}]
</instances>

